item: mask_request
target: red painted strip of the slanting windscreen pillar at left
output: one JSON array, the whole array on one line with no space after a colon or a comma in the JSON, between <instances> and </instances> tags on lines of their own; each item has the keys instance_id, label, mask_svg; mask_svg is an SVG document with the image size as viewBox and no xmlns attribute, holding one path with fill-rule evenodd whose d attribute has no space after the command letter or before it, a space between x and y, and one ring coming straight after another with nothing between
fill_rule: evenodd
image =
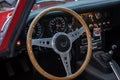
<instances>
[{"instance_id":1,"label":"red painted strip of the slanting windscreen pillar at left","mask_svg":"<svg viewBox=\"0 0 120 80\"><path fill-rule=\"evenodd\" d=\"M26 2L27 2L27 0L20 0L19 5L18 5L16 12L15 12L15 15L13 16L13 19L11 21L11 24L9 25L8 31L7 31L7 33L3 39L3 42L0 46L0 52L4 52L8 49L10 37L11 37L15 27L16 27L16 24L21 16L21 13L25 7Z\"/></svg>"}]
</instances>

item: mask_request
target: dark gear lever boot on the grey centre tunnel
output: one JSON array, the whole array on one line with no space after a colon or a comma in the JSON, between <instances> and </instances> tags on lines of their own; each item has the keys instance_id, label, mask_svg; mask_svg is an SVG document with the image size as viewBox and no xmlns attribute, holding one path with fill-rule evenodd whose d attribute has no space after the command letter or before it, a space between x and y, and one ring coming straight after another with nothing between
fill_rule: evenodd
<instances>
[{"instance_id":1,"label":"dark gear lever boot on the grey centre tunnel","mask_svg":"<svg viewBox=\"0 0 120 80\"><path fill-rule=\"evenodd\" d=\"M91 64L101 72L110 73L112 69L109 61L111 61L109 54L106 54L104 51L96 51L93 53Z\"/></svg>"}]
</instances>

